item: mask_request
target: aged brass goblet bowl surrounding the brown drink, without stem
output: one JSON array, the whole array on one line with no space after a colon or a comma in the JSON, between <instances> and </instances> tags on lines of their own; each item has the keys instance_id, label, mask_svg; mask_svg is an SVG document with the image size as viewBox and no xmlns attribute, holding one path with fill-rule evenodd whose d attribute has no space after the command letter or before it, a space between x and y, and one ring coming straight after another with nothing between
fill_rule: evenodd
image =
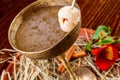
<instances>
[{"instance_id":1,"label":"aged brass goblet bowl surrounding the brown drink, without stem","mask_svg":"<svg viewBox=\"0 0 120 80\"><path fill-rule=\"evenodd\" d=\"M67 3L67 2L57 3L57 2L47 2L47 1L41 0L41 1L35 1L30 5L28 5L14 18L14 20L10 25L9 32L8 32L8 39L11 46L19 53L35 59L49 59L64 53L76 41L76 38L78 37L79 30L81 27L81 22L79 22L71 32L66 33L65 36L58 43L55 44L55 46L52 46L45 50L36 51L36 52L26 52L18 49L15 45L15 35L18 28L20 27L20 24L24 22L23 20L24 17L29 17L27 16L27 14L32 14L34 10L38 10L41 7L58 6L58 5L65 6L70 4L71 3ZM79 8L77 4L75 6Z\"/></svg>"}]
</instances>

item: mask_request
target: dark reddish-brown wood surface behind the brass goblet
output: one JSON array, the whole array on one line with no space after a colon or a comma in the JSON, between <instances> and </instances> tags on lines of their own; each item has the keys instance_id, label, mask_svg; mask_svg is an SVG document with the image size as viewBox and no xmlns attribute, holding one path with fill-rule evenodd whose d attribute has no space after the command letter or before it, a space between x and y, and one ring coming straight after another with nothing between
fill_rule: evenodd
<instances>
[{"instance_id":1,"label":"dark reddish-brown wood surface behind the brass goblet","mask_svg":"<svg viewBox=\"0 0 120 80\"><path fill-rule=\"evenodd\" d=\"M11 48L8 29L13 18L35 0L0 0L0 49ZM112 35L120 36L120 0L77 0L81 8L82 27L96 29L111 26ZM0 55L1 56L1 55Z\"/></svg>"}]
</instances>

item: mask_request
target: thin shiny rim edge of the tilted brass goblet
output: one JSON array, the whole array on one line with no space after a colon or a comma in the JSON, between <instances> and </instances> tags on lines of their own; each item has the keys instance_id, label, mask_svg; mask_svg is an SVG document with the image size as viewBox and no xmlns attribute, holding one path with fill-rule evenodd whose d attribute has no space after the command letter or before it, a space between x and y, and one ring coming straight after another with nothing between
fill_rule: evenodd
<instances>
[{"instance_id":1,"label":"thin shiny rim edge of the tilted brass goblet","mask_svg":"<svg viewBox=\"0 0 120 80\"><path fill-rule=\"evenodd\" d=\"M11 22L10 24L10 27L9 27L9 30L8 30L8 41L10 43L10 45L12 46L12 48L14 48L16 51L22 53L22 54L38 54L38 53L42 53L42 52L45 52L45 51L48 51L52 48L54 48L57 44L59 44L61 41L63 41L63 39L69 35L69 33L71 33L71 31L73 31L75 28L73 28L73 30L71 30L70 32L67 32L57 43L55 43L54 45L52 45L51 47L48 47L46 49L43 49L43 50L40 50L40 51L23 51L23 50L20 50L19 48L15 47L14 46L14 43L12 42L11 40L11 30L12 30L12 26L13 26L13 23L16 22L16 19L18 19L21 14L25 14L25 12L29 9L32 9L33 7L35 7L36 4L40 3L40 1L34 1L33 3L29 4L28 6L26 6L25 8L23 8L13 19L13 21ZM80 7L78 6L77 3L75 3L77 5L77 8L80 10ZM49 5L49 6L65 6L65 5ZM81 13L80 13L81 15ZM80 17L81 18L81 17ZM77 23L77 25L79 24L79 22ZM77 26L76 25L76 26ZM20 26L19 26L20 27ZM18 28L19 28L18 27ZM18 30L18 29L17 29Z\"/></svg>"}]
</instances>

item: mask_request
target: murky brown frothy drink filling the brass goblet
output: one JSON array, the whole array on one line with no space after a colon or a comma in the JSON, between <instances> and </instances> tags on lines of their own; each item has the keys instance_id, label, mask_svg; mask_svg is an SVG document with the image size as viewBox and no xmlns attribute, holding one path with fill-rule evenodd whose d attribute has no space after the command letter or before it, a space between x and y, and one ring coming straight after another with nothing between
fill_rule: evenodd
<instances>
[{"instance_id":1,"label":"murky brown frothy drink filling the brass goblet","mask_svg":"<svg viewBox=\"0 0 120 80\"><path fill-rule=\"evenodd\" d=\"M24 21L16 33L16 47L23 51L47 49L65 35L58 23L61 7L41 8Z\"/></svg>"}]
</instances>

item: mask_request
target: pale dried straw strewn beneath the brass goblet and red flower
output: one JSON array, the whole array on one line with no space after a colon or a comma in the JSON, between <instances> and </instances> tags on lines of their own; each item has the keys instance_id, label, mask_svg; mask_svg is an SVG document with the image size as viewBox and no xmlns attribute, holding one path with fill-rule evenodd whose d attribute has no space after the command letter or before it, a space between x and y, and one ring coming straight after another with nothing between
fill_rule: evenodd
<instances>
[{"instance_id":1,"label":"pale dried straw strewn beneath the brass goblet and red flower","mask_svg":"<svg viewBox=\"0 0 120 80\"><path fill-rule=\"evenodd\" d=\"M82 39L78 39L75 45L77 45L76 50L84 49L84 42ZM80 45L84 44L84 45ZM4 51L10 51L9 49L4 49ZM0 52L3 52L0 50ZM6 61L12 59L14 63L14 74L10 75L5 70L2 71L1 80L3 80L4 74L7 74L9 80L12 80L12 76L14 76L14 80L62 80L62 74L57 72L57 67L60 64L56 58L49 60L36 60L30 59L25 56L20 56L20 59L17 60L16 56L11 54L11 57L4 61L0 61L0 63L4 63ZM100 71L97 66L94 64L94 57L88 53L87 56L75 59L70 62L70 65L73 67L81 67L86 66L89 67L90 70L96 75L98 80L120 80L120 58L116 61L116 63L108 70L108 71Z\"/></svg>"}]
</instances>

